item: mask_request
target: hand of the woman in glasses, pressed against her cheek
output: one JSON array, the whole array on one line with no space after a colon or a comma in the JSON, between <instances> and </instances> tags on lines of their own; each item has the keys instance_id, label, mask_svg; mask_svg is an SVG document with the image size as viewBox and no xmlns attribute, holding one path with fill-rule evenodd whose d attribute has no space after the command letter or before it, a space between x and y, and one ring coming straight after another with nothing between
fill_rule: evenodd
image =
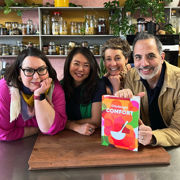
<instances>
[{"instance_id":1,"label":"hand of the woman in glasses, pressed against her cheek","mask_svg":"<svg viewBox=\"0 0 180 180\"><path fill-rule=\"evenodd\" d=\"M40 83L40 87L34 91L34 95L44 94L51 86L52 78L46 78Z\"/></svg>"}]
</instances>

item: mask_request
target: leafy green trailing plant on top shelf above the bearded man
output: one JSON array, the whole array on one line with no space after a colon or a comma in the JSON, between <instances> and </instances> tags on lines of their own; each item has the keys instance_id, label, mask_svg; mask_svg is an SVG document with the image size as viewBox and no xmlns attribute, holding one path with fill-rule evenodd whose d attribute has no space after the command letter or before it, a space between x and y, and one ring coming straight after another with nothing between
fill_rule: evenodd
<instances>
[{"instance_id":1,"label":"leafy green trailing plant on top shelf above the bearded man","mask_svg":"<svg viewBox=\"0 0 180 180\"><path fill-rule=\"evenodd\" d=\"M169 3L171 0L126 0L124 8L121 9L118 5L118 1L112 1L104 3L104 7L109 10L114 9L114 18L111 19L110 26L112 29L116 29L115 35L118 34L118 30L121 34L127 35L135 32L135 25L128 23L127 13L136 17L151 17L152 22L165 24L165 3ZM115 28L114 19L119 19L119 29Z\"/></svg>"}]
</instances>

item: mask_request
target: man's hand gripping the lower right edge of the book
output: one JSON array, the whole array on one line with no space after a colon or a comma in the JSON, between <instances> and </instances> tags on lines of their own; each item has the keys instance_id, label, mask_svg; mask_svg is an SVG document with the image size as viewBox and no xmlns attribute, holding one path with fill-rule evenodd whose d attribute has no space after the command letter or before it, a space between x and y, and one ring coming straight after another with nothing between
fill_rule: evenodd
<instances>
[{"instance_id":1,"label":"man's hand gripping the lower right edge of the book","mask_svg":"<svg viewBox=\"0 0 180 180\"><path fill-rule=\"evenodd\" d=\"M143 122L139 119L139 133L138 142L144 146L151 144L152 141L152 129L150 126L145 126Z\"/></svg>"}]
</instances>

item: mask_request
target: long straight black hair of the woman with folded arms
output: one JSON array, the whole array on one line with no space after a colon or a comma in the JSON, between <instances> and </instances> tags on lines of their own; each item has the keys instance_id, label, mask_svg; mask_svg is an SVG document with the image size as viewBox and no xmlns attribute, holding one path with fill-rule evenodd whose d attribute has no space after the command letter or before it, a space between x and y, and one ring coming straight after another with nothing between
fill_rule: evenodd
<instances>
[{"instance_id":1,"label":"long straight black hair of the woman with folded arms","mask_svg":"<svg viewBox=\"0 0 180 180\"><path fill-rule=\"evenodd\" d=\"M64 64L64 78L62 80L62 86L65 92L66 99L69 100L73 96L75 88L74 79L69 72L70 64L73 57L79 53L82 54L90 64L89 76L83 81L81 85L82 96L80 98L80 103L88 104L93 96L93 93L96 90L100 72L98 63L94 55L88 48L76 47L69 53Z\"/></svg>"}]
</instances>

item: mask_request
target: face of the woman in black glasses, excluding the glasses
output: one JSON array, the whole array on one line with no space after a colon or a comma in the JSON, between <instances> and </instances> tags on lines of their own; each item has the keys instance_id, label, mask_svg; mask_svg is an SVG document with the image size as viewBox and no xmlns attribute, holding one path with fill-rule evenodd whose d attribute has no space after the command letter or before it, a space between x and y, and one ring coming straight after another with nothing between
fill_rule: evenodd
<instances>
[{"instance_id":1,"label":"face of the woman in black glasses, excluding the glasses","mask_svg":"<svg viewBox=\"0 0 180 180\"><path fill-rule=\"evenodd\" d=\"M41 67L46 67L46 63L42 59L38 57L34 57L34 56L27 56L24 59L21 66L22 69L38 69ZM22 69L20 70L21 81L24 84L24 86L29 88L32 92L34 92L36 89L40 87L40 82L42 80L49 77L48 72L43 76L39 76L38 73L35 72L32 77L27 77L24 75L24 72Z\"/></svg>"}]
</instances>

